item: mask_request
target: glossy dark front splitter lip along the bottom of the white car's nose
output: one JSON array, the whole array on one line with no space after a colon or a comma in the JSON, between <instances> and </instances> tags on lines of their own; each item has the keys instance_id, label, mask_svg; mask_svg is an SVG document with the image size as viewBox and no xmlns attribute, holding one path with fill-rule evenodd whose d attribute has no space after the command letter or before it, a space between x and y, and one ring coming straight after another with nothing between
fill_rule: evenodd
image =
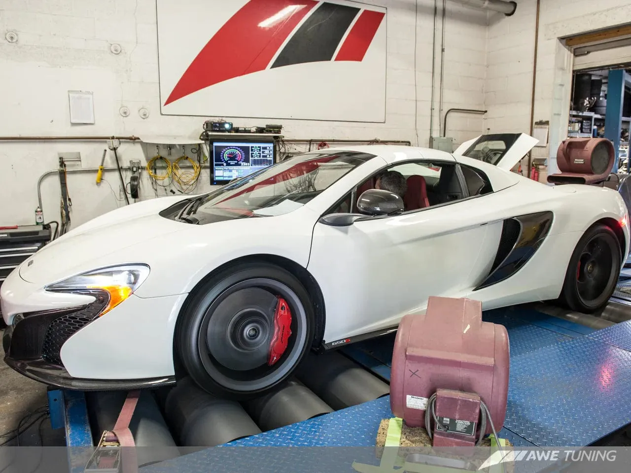
<instances>
[{"instance_id":1,"label":"glossy dark front splitter lip along the bottom of the white car's nose","mask_svg":"<svg viewBox=\"0 0 631 473\"><path fill-rule=\"evenodd\" d=\"M23 320L20 320L23 322ZM175 383L175 377L156 377L146 379L129 379L129 380L93 380L85 378L74 378L68 373L68 370L62 365L56 365L42 358L41 353L32 351L32 355L27 359L16 359L13 353L16 350L18 353L22 350L24 356L24 348L22 342L17 337L14 337L16 327L19 327L20 323L13 324L4 330L3 335L3 347L4 362L18 371L21 375L24 375L32 380L44 383L45 385L68 389L68 390L81 390L81 391L109 391L109 390L131 390L141 388L158 388ZM15 341L15 344L13 343ZM13 346L16 348L12 350ZM32 347L33 348L33 347Z\"/></svg>"}]
</instances>

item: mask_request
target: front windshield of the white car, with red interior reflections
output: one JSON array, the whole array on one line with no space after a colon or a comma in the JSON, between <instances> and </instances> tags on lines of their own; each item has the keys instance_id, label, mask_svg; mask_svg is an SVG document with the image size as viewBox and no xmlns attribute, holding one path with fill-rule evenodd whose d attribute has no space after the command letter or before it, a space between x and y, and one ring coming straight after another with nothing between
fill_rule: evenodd
<instances>
[{"instance_id":1,"label":"front windshield of the white car, with red interior reflections","mask_svg":"<svg viewBox=\"0 0 631 473\"><path fill-rule=\"evenodd\" d=\"M369 153L341 151L309 153L281 161L201 196L189 215L204 224L286 214L304 206L346 173L374 157Z\"/></svg>"}]
</instances>

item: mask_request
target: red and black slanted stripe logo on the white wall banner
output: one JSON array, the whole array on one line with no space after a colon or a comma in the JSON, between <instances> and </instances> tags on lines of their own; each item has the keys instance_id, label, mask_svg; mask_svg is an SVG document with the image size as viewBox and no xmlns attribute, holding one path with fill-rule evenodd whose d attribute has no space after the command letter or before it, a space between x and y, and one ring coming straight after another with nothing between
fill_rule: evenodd
<instances>
[{"instance_id":1,"label":"red and black slanted stripe logo on the white wall banner","mask_svg":"<svg viewBox=\"0 0 631 473\"><path fill-rule=\"evenodd\" d=\"M249 0L210 38L164 105L264 69L361 62L384 16L384 11L353 2Z\"/></svg>"}]
</instances>

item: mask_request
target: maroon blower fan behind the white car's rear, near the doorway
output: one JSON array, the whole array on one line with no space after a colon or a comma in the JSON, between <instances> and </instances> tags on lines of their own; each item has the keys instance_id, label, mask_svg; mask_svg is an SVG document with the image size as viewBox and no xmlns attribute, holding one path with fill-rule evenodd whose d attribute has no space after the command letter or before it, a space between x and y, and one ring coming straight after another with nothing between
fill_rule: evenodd
<instances>
[{"instance_id":1,"label":"maroon blower fan behind the white car's rear, near the doorway","mask_svg":"<svg viewBox=\"0 0 631 473\"><path fill-rule=\"evenodd\" d=\"M568 138L557 150L560 173L548 175L552 184L599 184L613 169L616 153L604 138Z\"/></svg>"}]
</instances>

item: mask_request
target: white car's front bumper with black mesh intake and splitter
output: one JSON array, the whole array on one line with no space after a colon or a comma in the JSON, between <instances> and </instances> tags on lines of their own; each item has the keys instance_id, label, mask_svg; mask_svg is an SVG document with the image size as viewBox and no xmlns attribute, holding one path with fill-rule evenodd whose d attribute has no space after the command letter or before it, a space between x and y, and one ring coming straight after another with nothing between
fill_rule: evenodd
<instances>
[{"instance_id":1,"label":"white car's front bumper with black mesh intake and splitter","mask_svg":"<svg viewBox=\"0 0 631 473\"><path fill-rule=\"evenodd\" d=\"M45 291L15 272L0 289L5 360L23 375L86 390L174 380L173 335L186 294L133 294L100 317L98 293Z\"/></svg>"}]
</instances>

